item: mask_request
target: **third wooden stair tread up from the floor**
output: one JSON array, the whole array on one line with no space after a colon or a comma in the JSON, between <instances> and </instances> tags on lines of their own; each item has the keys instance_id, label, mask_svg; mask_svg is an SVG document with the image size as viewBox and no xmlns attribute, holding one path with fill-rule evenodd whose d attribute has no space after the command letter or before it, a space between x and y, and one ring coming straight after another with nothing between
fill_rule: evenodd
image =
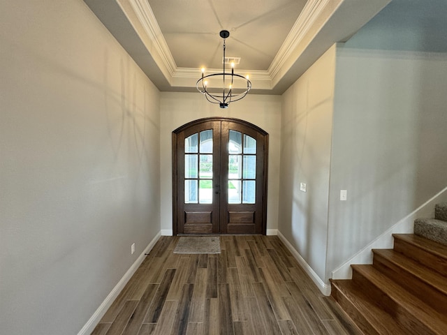
<instances>
[{"instance_id":1,"label":"third wooden stair tread up from the floor","mask_svg":"<svg viewBox=\"0 0 447 335\"><path fill-rule=\"evenodd\" d=\"M396 267L400 267L400 269L413 274L413 276L420 278L423 282L436 288L444 295L447 295L447 281L445 276L438 274L436 271L430 271L430 269L420 264L420 262L411 260L411 258L407 258L393 249L373 249L372 252L393 262Z\"/></svg>"}]
</instances>

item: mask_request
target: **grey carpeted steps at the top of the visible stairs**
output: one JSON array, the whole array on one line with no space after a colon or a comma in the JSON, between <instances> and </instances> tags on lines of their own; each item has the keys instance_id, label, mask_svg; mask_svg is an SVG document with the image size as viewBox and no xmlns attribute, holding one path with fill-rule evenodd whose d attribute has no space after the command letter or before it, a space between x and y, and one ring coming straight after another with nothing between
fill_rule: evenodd
<instances>
[{"instance_id":1,"label":"grey carpeted steps at the top of the visible stairs","mask_svg":"<svg viewBox=\"0 0 447 335\"><path fill-rule=\"evenodd\" d=\"M434 218L417 218L414 233L447 246L447 202L436 205Z\"/></svg>"}]
</instances>

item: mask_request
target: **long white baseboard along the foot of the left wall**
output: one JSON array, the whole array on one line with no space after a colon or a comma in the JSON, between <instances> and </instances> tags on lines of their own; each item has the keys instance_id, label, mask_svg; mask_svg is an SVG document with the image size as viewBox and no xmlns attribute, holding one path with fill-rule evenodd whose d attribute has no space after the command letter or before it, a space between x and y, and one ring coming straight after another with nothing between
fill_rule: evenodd
<instances>
[{"instance_id":1,"label":"long white baseboard along the foot of the left wall","mask_svg":"<svg viewBox=\"0 0 447 335\"><path fill-rule=\"evenodd\" d=\"M79 331L78 335L89 335L91 332L94 331L96 325L98 325L101 318L104 316L105 312L107 312L110 305L112 305L112 302L117 298L119 295L119 292L122 291L126 283L129 281L129 279L133 276L135 271L138 269L142 261L145 259L146 255L145 253L149 253L149 251L154 248L154 245L156 244L156 241L159 240L161 236L161 232L156 234L154 239L149 242L147 247L145 248L145 251L141 253L140 256L135 260L133 265L129 268L129 270L126 271L126 274L121 278L121 280L115 285L115 288L113 288L112 292L109 293L109 295L105 298L103 303L96 309L95 313L91 315L91 318L87 321L87 323L82 327L82 329Z\"/></svg>"}]
</instances>

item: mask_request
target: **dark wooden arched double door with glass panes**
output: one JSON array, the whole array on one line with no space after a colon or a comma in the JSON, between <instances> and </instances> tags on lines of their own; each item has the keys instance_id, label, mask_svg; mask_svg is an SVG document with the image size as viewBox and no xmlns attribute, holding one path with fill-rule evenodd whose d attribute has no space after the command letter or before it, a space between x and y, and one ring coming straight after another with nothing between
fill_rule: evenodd
<instances>
[{"instance_id":1,"label":"dark wooden arched double door with glass panes","mask_svg":"<svg viewBox=\"0 0 447 335\"><path fill-rule=\"evenodd\" d=\"M210 118L173 132L174 234L265 234L268 134Z\"/></svg>"}]
</instances>

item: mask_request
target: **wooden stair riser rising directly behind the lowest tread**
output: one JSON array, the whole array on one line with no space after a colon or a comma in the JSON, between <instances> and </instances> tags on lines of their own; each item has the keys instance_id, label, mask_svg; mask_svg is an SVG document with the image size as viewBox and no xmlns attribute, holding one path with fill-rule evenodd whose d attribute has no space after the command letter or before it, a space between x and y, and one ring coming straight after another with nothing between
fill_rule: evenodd
<instances>
[{"instance_id":1,"label":"wooden stair riser rising directly behind the lowest tread","mask_svg":"<svg viewBox=\"0 0 447 335\"><path fill-rule=\"evenodd\" d=\"M362 276L362 274L356 271L356 269L353 269L352 279L357 285L360 285L360 287L363 288L363 292L365 292L369 299L374 300L376 304L383 308L383 310L393 315L396 322L399 322L402 327L407 329L408 334L435 334L431 329L423 325L423 323L421 323L417 318L414 318L413 315L400 306L400 304L397 304L396 301L390 299L390 297L388 297L383 290L376 287L376 285Z\"/></svg>"}]
</instances>

